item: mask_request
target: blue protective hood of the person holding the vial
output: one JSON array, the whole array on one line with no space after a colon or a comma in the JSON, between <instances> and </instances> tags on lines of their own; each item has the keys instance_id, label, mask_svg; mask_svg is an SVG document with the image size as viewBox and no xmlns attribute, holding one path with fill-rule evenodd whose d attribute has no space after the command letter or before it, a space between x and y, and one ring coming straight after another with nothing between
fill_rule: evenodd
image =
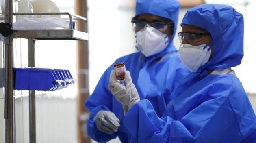
<instances>
[{"instance_id":1,"label":"blue protective hood of the person holding the vial","mask_svg":"<svg viewBox=\"0 0 256 143\"><path fill-rule=\"evenodd\" d=\"M243 15L234 8L227 5L202 4L187 11L181 25L184 24L205 29L213 38L212 56L202 68L225 69L241 63Z\"/></svg>"}]
</instances>

